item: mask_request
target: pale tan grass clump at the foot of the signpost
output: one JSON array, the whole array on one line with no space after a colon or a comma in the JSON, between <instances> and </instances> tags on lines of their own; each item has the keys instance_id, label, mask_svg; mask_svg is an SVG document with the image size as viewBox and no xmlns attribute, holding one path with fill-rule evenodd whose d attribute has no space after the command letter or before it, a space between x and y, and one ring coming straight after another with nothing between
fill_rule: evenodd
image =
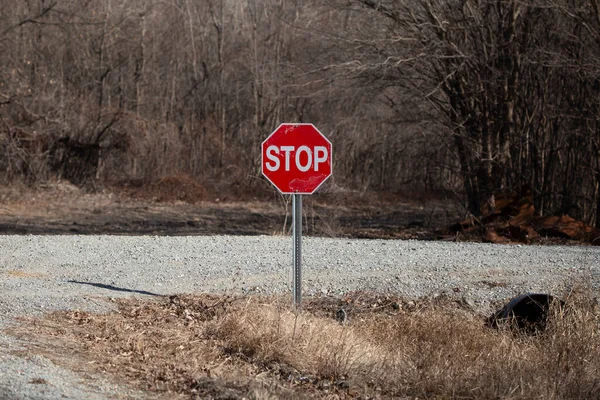
<instances>
[{"instance_id":1,"label":"pale tan grass clump at the foot of the signpost","mask_svg":"<svg viewBox=\"0 0 600 400\"><path fill-rule=\"evenodd\" d=\"M257 301L214 328L226 352L277 373L293 371L295 380L347 379L356 366L373 361L375 351L367 338L333 319Z\"/></svg>"}]
</instances>

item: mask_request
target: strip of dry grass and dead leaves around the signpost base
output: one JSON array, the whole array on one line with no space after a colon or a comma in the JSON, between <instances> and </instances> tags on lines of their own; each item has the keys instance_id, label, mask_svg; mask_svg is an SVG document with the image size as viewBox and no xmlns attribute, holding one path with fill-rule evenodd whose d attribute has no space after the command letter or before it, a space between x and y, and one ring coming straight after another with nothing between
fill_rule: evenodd
<instances>
[{"instance_id":1,"label":"strip of dry grass and dead leaves around the signpost base","mask_svg":"<svg viewBox=\"0 0 600 400\"><path fill-rule=\"evenodd\" d=\"M13 333L167 396L598 398L597 303L567 304L536 336L493 330L449 300L366 293L310 299L299 315L281 298L122 300L117 313L59 312Z\"/></svg>"}]
</instances>

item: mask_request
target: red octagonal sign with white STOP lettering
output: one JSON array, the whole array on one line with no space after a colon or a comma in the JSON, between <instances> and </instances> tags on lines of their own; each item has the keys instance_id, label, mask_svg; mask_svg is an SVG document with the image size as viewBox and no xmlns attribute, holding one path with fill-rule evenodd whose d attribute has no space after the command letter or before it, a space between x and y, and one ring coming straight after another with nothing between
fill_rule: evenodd
<instances>
[{"instance_id":1,"label":"red octagonal sign with white STOP lettering","mask_svg":"<svg viewBox=\"0 0 600 400\"><path fill-rule=\"evenodd\" d=\"M331 175L331 142L313 124L281 124L262 144L262 172L281 193L312 194Z\"/></svg>"}]
</instances>

